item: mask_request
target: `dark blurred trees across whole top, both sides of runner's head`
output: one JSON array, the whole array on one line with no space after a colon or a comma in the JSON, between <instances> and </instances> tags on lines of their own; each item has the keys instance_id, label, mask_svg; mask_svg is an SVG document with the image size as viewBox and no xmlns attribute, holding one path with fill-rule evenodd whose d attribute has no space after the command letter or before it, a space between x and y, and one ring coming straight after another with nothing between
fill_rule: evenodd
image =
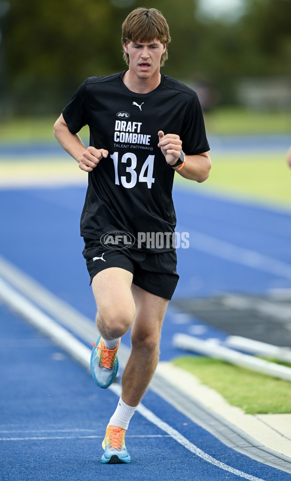
<instances>
[{"instance_id":1,"label":"dark blurred trees across whole top, both sides of runner's head","mask_svg":"<svg viewBox=\"0 0 291 481\"><path fill-rule=\"evenodd\" d=\"M198 1L147 2L170 26L165 74L210 83L223 102L234 100L233 86L242 76L290 74L291 0L245 0L245 14L233 23L196 16ZM125 69L121 24L143 5L140 0L10 0L2 48L11 111L55 114L85 78Z\"/></svg>"}]
</instances>

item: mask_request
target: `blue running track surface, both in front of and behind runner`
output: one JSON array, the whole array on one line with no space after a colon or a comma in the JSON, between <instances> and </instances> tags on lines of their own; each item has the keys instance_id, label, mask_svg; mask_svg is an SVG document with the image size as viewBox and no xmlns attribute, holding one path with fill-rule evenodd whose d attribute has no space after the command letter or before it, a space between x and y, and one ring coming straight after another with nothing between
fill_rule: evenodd
<instances>
[{"instance_id":1,"label":"blue running track surface, both in front of and behind runner","mask_svg":"<svg viewBox=\"0 0 291 481\"><path fill-rule=\"evenodd\" d=\"M84 195L83 187L0 191L0 254L93 322L96 306L79 236ZM290 213L179 188L175 204L177 230L190 234L190 248L178 249L177 299L291 288ZM170 307L161 360L180 354L171 346L176 314ZM150 390L146 408L217 463L136 413L127 433L132 462L101 465L116 395L98 389L81 365L4 306L0 315L1 480L291 480L291 474L227 448ZM186 329L187 320L178 326Z\"/></svg>"}]
</instances>

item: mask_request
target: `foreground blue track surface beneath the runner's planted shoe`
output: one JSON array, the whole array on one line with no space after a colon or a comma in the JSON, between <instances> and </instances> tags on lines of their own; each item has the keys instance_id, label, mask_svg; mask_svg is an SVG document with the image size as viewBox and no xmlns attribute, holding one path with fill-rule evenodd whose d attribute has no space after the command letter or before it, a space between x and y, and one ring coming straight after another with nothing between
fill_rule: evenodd
<instances>
[{"instance_id":1,"label":"foreground blue track surface beneath the runner's planted shoe","mask_svg":"<svg viewBox=\"0 0 291 481\"><path fill-rule=\"evenodd\" d=\"M117 397L98 389L81 366L21 319L3 307L0 315L0 355L5 359L0 392L2 479L242 479L193 455L139 413L128 430L132 462L102 465L100 443ZM151 391L144 404L219 461L266 481L278 476L282 481L291 479L287 473L227 448Z\"/></svg>"}]
</instances>

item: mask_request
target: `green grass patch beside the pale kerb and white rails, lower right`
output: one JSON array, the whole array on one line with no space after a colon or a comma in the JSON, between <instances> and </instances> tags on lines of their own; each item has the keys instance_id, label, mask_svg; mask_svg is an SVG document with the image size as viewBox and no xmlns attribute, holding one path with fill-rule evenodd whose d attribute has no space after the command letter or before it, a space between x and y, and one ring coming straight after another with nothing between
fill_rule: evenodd
<instances>
[{"instance_id":1,"label":"green grass patch beside the pale kerb and white rails, lower right","mask_svg":"<svg viewBox=\"0 0 291 481\"><path fill-rule=\"evenodd\" d=\"M193 374L246 414L291 413L288 381L207 357L181 357L173 364Z\"/></svg>"}]
</instances>

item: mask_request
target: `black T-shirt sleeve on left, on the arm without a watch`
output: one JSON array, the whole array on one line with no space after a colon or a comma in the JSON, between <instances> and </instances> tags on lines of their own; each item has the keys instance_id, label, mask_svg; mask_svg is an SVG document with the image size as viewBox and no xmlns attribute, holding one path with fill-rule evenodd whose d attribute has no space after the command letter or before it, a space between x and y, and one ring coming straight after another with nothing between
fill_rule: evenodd
<instances>
[{"instance_id":1,"label":"black T-shirt sleeve on left, on the arm without a watch","mask_svg":"<svg viewBox=\"0 0 291 481\"><path fill-rule=\"evenodd\" d=\"M63 110L63 117L70 133L78 133L84 125L90 124L90 108L87 99L86 81L78 88L70 103Z\"/></svg>"}]
</instances>

